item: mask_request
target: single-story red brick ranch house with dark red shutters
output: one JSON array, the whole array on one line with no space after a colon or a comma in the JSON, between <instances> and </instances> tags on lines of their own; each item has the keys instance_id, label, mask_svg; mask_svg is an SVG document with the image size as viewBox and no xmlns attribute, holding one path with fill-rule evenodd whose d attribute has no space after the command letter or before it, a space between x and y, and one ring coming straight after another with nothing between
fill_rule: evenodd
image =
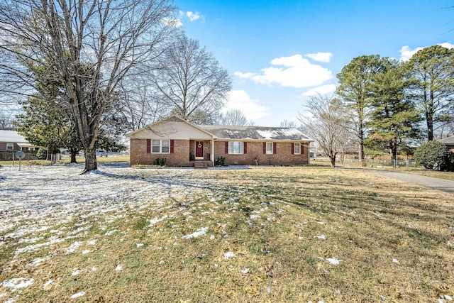
<instances>
[{"instance_id":1,"label":"single-story red brick ranch house with dark red shutters","mask_svg":"<svg viewBox=\"0 0 454 303\"><path fill-rule=\"evenodd\" d=\"M130 164L167 166L306 165L313 141L296 128L194 125L170 116L126 135Z\"/></svg>"}]
</instances>

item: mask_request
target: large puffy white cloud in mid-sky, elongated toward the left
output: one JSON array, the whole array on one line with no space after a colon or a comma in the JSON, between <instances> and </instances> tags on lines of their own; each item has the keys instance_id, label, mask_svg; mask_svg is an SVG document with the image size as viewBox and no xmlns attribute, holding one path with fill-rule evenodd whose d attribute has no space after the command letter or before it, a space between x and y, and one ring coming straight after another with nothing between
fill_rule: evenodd
<instances>
[{"instance_id":1,"label":"large puffy white cloud in mid-sky, elongated toward the left","mask_svg":"<svg viewBox=\"0 0 454 303\"><path fill-rule=\"evenodd\" d=\"M301 55L279 57L271 60L271 67L261 73L235 72L241 78L260 84L279 84L282 87L314 87L333 78L331 70L314 65Z\"/></svg>"}]
</instances>

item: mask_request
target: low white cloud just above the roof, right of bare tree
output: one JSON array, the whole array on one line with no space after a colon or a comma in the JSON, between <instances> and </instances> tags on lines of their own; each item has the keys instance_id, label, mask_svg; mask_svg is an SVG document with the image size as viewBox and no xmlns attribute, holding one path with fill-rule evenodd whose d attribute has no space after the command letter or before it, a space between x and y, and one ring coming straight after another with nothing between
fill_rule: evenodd
<instances>
[{"instance_id":1,"label":"low white cloud just above the roof, right of bare tree","mask_svg":"<svg viewBox=\"0 0 454 303\"><path fill-rule=\"evenodd\" d=\"M233 90L228 94L223 113L231 109L240 109L248 120L270 116L270 109L267 106L258 104L257 99L250 99L248 93L243 90Z\"/></svg>"}]
</instances>

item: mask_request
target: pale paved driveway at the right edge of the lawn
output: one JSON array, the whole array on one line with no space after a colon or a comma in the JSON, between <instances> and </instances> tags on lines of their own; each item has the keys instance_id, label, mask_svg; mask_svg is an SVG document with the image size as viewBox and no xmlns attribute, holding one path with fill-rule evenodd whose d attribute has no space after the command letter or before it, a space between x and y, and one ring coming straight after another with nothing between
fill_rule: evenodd
<instances>
[{"instance_id":1,"label":"pale paved driveway at the right edge of the lawn","mask_svg":"<svg viewBox=\"0 0 454 303\"><path fill-rule=\"evenodd\" d=\"M438 179L434 177L425 177L414 174L406 174L404 172L392 172L389 170L365 170L375 175L389 177L413 184L418 184L424 187L430 187L433 189L441 190L442 192L448 192L454 194L454 181Z\"/></svg>"}]
</instances>

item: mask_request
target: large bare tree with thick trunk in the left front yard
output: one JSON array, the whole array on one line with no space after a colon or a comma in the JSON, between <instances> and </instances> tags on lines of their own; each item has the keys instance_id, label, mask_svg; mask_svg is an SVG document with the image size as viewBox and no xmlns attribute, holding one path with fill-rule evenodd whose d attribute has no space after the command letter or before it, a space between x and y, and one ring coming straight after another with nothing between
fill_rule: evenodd
<instances>
[{"instance_id":1,"label":"large bare tree with thick trunk in the left front yard","mask_svg":"<svg viewBox=\"0 0 454 303\"><path fill-rule=\"evenodd\" d=\"M0 63L0 89L27 92L27 65L50 62L67 94L57 106L71 110L84 147L84 172L96 170L104 110L118 99L123 79L162 52L172 34L164 21L174 11L167 0L1 1L0 53L9 60Z\"/></svg>"}]
</instances>

